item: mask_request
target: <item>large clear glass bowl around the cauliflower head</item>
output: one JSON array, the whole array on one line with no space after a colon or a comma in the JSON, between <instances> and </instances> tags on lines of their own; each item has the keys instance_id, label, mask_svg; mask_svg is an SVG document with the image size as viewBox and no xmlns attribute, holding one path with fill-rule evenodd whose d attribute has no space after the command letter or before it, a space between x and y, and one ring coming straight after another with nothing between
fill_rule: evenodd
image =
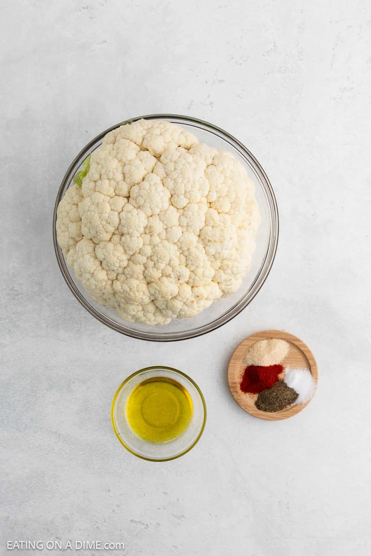
<instances>
[{"instance_id":1,"label":"large clear glass bowl around the cauliflower head","mask_svg":"<svg viewBox=\"0 0 371 556\"><path fill-rule=\"evenodd\" d=\"M265 175L263 168L259 162L248 151L242 143L229 135L226 131L219 127L202 120L196 120L189 116L179 116L176 114L151 114L149 116L138 116L126 120L126 122L134 122L145 118L146 120L165 120L176 123L186 130L194 133L200 142L206 143L212 147L223 148L234 153L235 157L245 166L249 176L256 184L256 198L259 203L261 216L261 224L256 235L256 250L253 255L253 261L250 272L245 276L243 284L235 294L225 297L213 303L210 307L201 311L198 315L189 319L175 319L165 326L148 326L138 324L137 322L128 322L123 320L113 309L99 305L90 295L87 294L84 287L77 280L75 272L66 264L65 257L61 248L57 243L56 220L57 206L68 187L73 185L72 178L75 173L81 169L81 164L85 158L98 148L103 137L108 131L114 130L124 122L117 123L116 126L110 127L95 137L90 143L82 149L68 168L65 177L62 180L60 190L58 191L54 216L53 216L53 240L57 256L58 265L60 266L63 277L65 278L70 290L81 305L85 307L91 315L101 321L103 324L110 326L113 330L132 336L141 340L152 341L174 341L186 340L206 332L211 332L219 326L230 321L239 314L263 286L266 277L269 274L273 264L277 241L278 241L278 210L273 193L273 189L269 183L268 177Z\"/></svg>"}]
</instances>

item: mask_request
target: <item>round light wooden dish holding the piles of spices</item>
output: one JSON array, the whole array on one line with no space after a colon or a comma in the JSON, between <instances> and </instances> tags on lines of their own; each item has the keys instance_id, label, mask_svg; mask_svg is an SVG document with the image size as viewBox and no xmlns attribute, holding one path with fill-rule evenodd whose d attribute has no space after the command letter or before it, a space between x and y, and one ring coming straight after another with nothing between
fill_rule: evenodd
<instances>
[{"instance_id":1,"label":"round light wooden dish holding the piles of spices","mask_svg":"<svg viewBox=\"0 0 371 556\"><path fill-rule=\"evenodd\" d=\"M244 394L240 390L240 375L245 368L243 363L243 355L245 351L247 351L256 341L269 340L272 338L286 340L290 343L289 353L286 355L281 364L284 367L289 366L295 369L309 369L315 380L315 386L317 387L318 369L313 353L311 353L309 347L299 338L281 330L264 330L263 332L257 332L241 342L241 344L235 349L234 354L229 361L228 384L234 399L242 409L247 411L247 413L250 413L250 415L253 415L254 417L258 417L259 419L265 419L266 421L279 421L281 419L288 419L289 417L296 415L296 413L299 413L299 411L304 409L305 406L309 404L310 400L307 401L306 404L296 404L290 408L281 409L281 411L260 411L255 406L255 399L253 396Z\"/></svg>"}]
</instances>

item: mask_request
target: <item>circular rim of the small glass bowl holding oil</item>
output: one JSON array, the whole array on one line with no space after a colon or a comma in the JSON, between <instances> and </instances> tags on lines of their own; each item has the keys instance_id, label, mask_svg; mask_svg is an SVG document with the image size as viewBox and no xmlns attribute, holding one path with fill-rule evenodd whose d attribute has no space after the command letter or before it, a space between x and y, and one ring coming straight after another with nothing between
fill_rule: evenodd
<instances>
[{"instance_id":1,"label":"circular rim of the small glass bowl holding oil","mask_svg":"<svg viewBox=\"0 0 371 556\"><path fill-rule=\"evenodd\" d=\"M118 433L118 431L117 431L117 429L116 429L115 419L114 419L114 416L113 416L114 411L115 411L115 404L116 404L117 396L118 396L118 394L120 394L121 389L123 388L123 386L125 386L125 384L127 384L128 381L131 380L131 379L133 378L133 376L136 376L136 375L138 375L139 373L144 373L144 372L146 372L146 371L152 371L152 370L155 370L155 369L159 369L159 370L165 369L165 370L167 370L167 371L172 371L172 372L175 373L175 374L184 376L184 378L186 378L187 380L189 380L190 383L193 384L193 385L195 386L197 392L198 392L199 395L200 395L200 398L201 398L201 401L202 401L202 406L203 406L203 408L204 408L204 419L203 419L203 421L202 421L202 426L201 426L201 429L200 429L199 434L197 434L196 439L192 442L192 444L191 444L190 446L188 446L188 448L187 448L186 450L181 451L180 454L171 456L171 458L154 459L154 458L147 458L147 457L144 456L144 455L137 454L136 451L134 451L134 450L132 450L131 448L129 448L129 446L127 446L127 445L125 444L125 442L122 440L122 438L120 437L120 433ZM113 400L112 400L112 404L111 404L111 423L112 423L112 428L113 428L113 431L115 432L115 435L116 435L117 439L120 441L120 443L122 444L122 446L123 446L124 448L126 448L127 451L129 451L131 454L135 455L137 458L145 459L146 461L171 461L171 460L173 460L173 459L180 458L182 455L184 455L184 454L186 454L187 452L189 452L192 448L194 448L194 446L195 446L195 445L197 444L197 442L200 440L200 438L201 438L201 436L202 436L202 433L204 432L205 425L206 425L206 416L207 416L207 411L206 411L206 402L205 402L205 398L204 398L204 395L202 394L202 392L201 392L199 386L197 386L197 384L195 383L195 381L192 380L190 376L186 375L185 373L182 373L182 371L180 371L180 370L178 370L178 369L174 369L174 367L166 367L166 366L164 366L164 365L160 365L160 366L159 366L159 365L155 365L155 366L152 366L152 367L145 367L144 369L139 369L138 371L135 371L135 373L132 373L130 376L127 376L127 378L120 384L120 386L118 386L118 388L117 388L117 390L116 390L116 393L115 393L115 395L113 396Z\"/></svg>"}]
</instances>

